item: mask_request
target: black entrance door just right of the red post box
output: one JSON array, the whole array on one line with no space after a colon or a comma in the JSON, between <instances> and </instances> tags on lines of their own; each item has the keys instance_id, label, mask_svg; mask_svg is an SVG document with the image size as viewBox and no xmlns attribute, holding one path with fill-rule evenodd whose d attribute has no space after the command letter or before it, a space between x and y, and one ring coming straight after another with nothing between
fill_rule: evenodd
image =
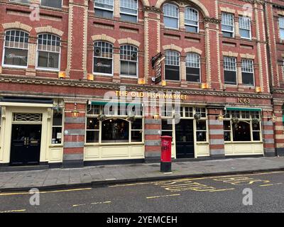
<instances>
[{"instance_id":1,"label":"black entrance door just right of the red post box","mask_svg":"<svg viewBox=\"0 0 284 227\"><path fill-rule=\"evenodd\" d=\"M193 120L181 119L175 125L175 144L177 158L195 157Z\"/></svg>"}]
</instances>

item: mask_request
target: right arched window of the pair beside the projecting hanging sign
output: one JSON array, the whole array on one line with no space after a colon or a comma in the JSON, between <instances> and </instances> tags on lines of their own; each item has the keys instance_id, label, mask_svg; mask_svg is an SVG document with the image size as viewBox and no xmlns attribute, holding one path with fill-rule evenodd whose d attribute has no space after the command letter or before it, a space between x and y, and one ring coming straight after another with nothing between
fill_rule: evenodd
<instances>
[{"instance_id":1,"label":"right arched window of the pair beside the projecting hanging sign","mask_svg":"<svg viewBox=\"0 0 284 227\"><path fill-rule=\"evenodd\" d=\"M200 55L190 52L185 58L186 80L200 82Z\"/></svg>"}]
</instances>

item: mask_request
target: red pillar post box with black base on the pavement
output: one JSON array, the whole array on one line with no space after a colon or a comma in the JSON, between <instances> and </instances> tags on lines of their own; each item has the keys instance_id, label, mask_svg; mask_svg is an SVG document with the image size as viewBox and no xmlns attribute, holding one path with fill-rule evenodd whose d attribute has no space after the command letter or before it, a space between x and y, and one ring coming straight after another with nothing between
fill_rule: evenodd
<instances>
[{"instance_id":1,"label":"red pillar post box with black base on the pavement","mask_svg":"<svg viewBox=\"0 0 284 227\"><path fill-rule=\"evenodd\" d=\"M172 172L172 137L161 136L160 172Z\"/></svg>"}]
</instances>

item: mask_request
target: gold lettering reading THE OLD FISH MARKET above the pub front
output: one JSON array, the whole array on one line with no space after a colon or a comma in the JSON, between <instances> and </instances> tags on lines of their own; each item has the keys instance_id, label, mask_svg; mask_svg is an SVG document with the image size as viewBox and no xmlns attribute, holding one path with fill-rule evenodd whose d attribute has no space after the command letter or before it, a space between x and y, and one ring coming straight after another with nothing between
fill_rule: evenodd
<instances>
[{"instance_id":1,"label":"gold lettering reading THE OLD FISH MARKET above the pub front","mask_svg":"<svg viewBox=\"0 0 284 227\"><path fill-rule=\"evenodd\" d=\"M178 99L186 100L186 94L169 94L169 93L153 93L153 92L127 92L127 91L116 91L116 96L131 96L148 99Z\"/></svg>"}]
</instances>

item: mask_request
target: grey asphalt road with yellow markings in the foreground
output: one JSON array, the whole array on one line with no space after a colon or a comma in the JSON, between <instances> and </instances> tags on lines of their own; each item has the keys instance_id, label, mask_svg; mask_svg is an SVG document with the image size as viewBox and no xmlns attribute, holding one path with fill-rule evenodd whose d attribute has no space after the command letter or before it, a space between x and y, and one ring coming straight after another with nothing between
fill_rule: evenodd
<instances>
[{"instance_id":1,"label":"grey asphalt road with yellow markings in the foreground","mask_svg":"<svg viewBox=\"0 0 284 227\"><path fill-rule=\"evenodd\" d=\"M244 189L252 200L243 204ZM251 189L251 191L250 191ZM117 184L40 192L0 193L0 213L12 212L284 212L284 172L263 172ZM251 198L251 197L250 197ZM35 200L33 200L35 201Z\"/></svg>"}]
</instances>

